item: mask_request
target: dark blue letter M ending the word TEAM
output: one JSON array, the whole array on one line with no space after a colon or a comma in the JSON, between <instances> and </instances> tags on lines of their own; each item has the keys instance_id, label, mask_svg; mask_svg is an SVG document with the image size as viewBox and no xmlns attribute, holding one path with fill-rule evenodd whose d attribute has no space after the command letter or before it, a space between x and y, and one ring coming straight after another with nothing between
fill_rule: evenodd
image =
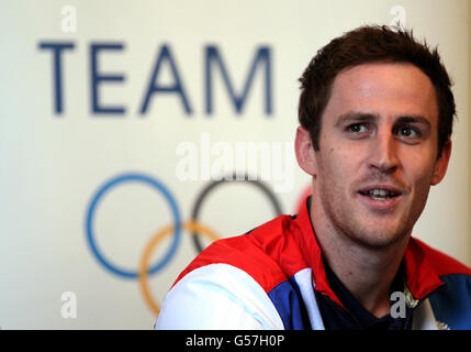
<instances>
[{"instance_id":1,"label":"dark blue letter M ending the word TEAM","mask_svg":"<svg viewBox=\"0 0 471 352\"><path fill-rule=\"evenodd\" d=\"M272 100L271 100L271 52L267 46L258 47L255 58L251 63L248 76L245 80L244 89L242 94L236 94L227 73L226 66L220 55L220 52L216 46L206 46L205 48L205 94L206 94L206 105L205 112L208 114L213 113L213 69L217 67L223 77L224 85L229 95L231 101L234 105L235 110L238 114L242 113L244 103L247 100L248 92L250 90L251 84L254 81L254 76L258 67L263 67L265 74L265 113L272 113Z\"/></svg>"}]
</instances>

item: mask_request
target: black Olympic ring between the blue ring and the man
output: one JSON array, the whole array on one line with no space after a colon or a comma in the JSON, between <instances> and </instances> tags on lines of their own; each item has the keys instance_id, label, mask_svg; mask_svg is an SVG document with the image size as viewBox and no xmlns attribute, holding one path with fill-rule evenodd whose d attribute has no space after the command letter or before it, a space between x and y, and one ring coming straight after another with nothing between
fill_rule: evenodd
<instances>
[{"instance_id":1,"label":"black Olympic ring between the blue ring and the man","mask_svg":"<svg viewBox=\"0 0 471 352\"><path fill-rule=\"evenodd\" d=\"M203 188L203 190L200 193L200 195L197 197L197 201L194 202L193 210L191 212L191 220L195 221L197 223L199 222L198 216L200 213L200 209L201 209L201 206L203 204L204 198L208 196L208 194L213 188L217 187L218 185L222 185L223 183L227 183L227 182L231 182L231 183L240 183L240 182L246 183L246 182L248 182L250 185L257 186L270 199L271 205L273 206L273 210L276 212L276 216L279 216L282 213L281 206L277 199L277 196L271 191L271 189L265 183L262 183L261 180L257 180L257 179L249 179L249 176L247 174L244 174L244 179L239 179L237 177L239 177L239 176L236 174L233 174L232 178L229 178L229 179L226 179L226 177L223 177L223 179L221 179L221 180L213 180L213 182L209 183ZM194 243L194 246L197 248L198 253L201 253L203 251L203 246L201 244L198 231L192 232L192 238L193 238L193 243Z\"/></svg>"}]
</instances>

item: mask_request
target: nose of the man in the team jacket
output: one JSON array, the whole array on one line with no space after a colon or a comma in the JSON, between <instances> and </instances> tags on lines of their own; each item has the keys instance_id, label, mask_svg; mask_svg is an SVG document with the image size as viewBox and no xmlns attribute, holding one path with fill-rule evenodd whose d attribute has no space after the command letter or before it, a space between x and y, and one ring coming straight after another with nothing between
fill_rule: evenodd
<instances>
[{"instance_id":1,"label":"nose of the man in the team jacket","mask_svg":"<svg viewBox=\"0 0 471 352\"><path fill-rule=\"evenodd\" d=\"M391 131L379 131L371 143L369 166L383 174L394 173L399 165L396 147Z\"/></svg>"}]
</instances>

